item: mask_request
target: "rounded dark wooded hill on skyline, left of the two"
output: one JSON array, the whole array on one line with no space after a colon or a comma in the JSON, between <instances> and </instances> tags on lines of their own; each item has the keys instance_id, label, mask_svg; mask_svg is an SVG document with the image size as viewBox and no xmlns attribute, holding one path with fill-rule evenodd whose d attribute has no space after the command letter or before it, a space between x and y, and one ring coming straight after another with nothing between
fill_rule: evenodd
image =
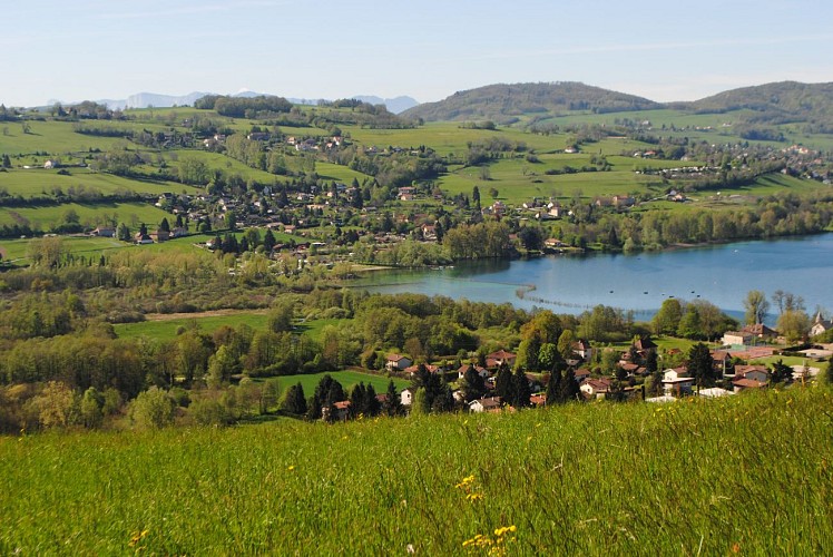
<instances>
[{"instance_id":1,"label":"rounded dark wooded hill on skyline, left of the two","mask_svg":"<svg viewBox=\"0 0 833 557\"><path fill-rule=\"evenodd\" d=\"M423 120L478 120L506 123L525 115L555 115L567 110L618 113L659 108L641 97L579 82L498 84L458 91L439 102L425 102L402 113Z\"/></svg>"}]
</instances>

